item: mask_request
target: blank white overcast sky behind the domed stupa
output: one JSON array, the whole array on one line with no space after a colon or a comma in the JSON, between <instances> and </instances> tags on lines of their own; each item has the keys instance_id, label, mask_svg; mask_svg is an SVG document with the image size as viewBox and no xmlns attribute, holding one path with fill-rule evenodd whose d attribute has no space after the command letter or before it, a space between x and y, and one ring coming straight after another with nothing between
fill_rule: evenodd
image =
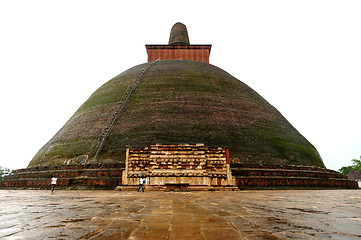
<instances>
[{"instance_id":1,"label":"blank white overcast sky behind the domed stupa","mask_svg":"<svg viewBox=\"0 0 361 240\"><path fill-rule=\"evenodd\" d=\"M97 88L147 61L145 44L167 44L178 21L327 168L359 158L361 1L215 2L1 1L0 166L27 167Z\"/></svg>"}]
</instances>

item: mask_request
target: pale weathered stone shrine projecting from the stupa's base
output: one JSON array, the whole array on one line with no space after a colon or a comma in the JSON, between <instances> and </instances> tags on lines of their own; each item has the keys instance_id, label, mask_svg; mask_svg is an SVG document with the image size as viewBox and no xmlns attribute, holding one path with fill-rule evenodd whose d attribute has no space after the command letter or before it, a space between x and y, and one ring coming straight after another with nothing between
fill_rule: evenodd
<instances>
[{"instance_id":1,"label":"pale weathered stone shrine projecting from the stupa's base","mask_svg":"<svg viewBox=\"0 0 361 240\"><path fill-rule=\"evenodd\" d=\"M133 189L139 178L149 180L147 188L166 191L238 188L230 169L229 151L204 144L155 144L127 147L122 186Z\"/></svg>"}]
</instances>

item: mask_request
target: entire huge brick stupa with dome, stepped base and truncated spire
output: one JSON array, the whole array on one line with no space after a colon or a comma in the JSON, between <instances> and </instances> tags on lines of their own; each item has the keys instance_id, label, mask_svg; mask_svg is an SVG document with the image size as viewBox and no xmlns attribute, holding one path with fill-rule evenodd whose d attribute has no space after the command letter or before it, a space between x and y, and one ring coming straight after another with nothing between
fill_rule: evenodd
<instances>
[{"instance_id":1,"label":"entire huge brick stupa with dome, stepped base and truncated spire","mask_svg":"<svg viewBox=\"0 0 361 240\"><path fill-rule=\"evenodd\" d=\"M64 188L112 189L147 176L161 190L357 187L275 107L209 64L211 45L191 45L184 24L146 49L148 63L96 90L2 186L42 188L57 176Z\"/></svg>"}]
</instances>

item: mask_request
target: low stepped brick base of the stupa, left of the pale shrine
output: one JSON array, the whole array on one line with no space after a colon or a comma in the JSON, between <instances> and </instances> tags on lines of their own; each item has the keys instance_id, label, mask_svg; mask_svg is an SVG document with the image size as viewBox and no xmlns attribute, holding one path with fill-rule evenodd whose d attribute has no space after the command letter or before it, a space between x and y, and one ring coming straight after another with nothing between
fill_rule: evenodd
<instances>
[{"instance_id":1,"label":"low stepped brick base of the stupa, left of the pale shrine","mask_svg":"<svg viewBox=\"0 0 361 240\"><path fill-rule=\"evenodd\" d=\"M58 178L57 188L114 189L121 183L124 164L84 164L32 167L13 171L2 188L46 189Z\"/></svg>"}]
</instances>

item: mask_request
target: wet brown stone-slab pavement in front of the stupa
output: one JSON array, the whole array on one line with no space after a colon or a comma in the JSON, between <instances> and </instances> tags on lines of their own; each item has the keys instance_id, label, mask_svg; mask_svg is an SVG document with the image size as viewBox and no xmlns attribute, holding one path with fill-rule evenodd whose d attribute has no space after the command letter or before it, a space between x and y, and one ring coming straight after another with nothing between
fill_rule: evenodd
<instances>
[{"instance_id":1,"label":"wet brown stone-slab pavement in front of the stupa","mask_svg":"<svg viewBox=\"0 0 361 240\"><path fill-rule=\"evenodd\" d=\"M2 239L360 239L361 190L0 190Z\"/></svg>"}]
</instances>

